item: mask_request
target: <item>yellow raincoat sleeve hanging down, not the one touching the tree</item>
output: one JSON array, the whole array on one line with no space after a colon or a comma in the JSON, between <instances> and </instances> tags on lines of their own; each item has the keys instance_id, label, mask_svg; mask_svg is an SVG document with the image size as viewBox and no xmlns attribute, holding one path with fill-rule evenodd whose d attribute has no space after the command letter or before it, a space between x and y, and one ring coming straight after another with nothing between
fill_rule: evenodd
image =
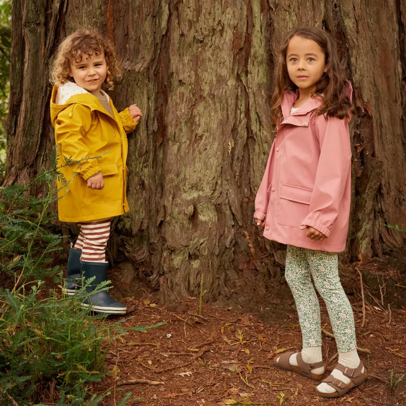
<instances>
[{"instance_id":1,"label":"yellow raincoat sleeve hanging down, not the one touching the tree","mask_svg":"<svg viewBox=\"0 0 406 406\"><path fill-rule=\"evenodd\" d=\"M84 138L84 134L88 130L86 125L91 123L90 114L91 112L88 107L74 104L61 111L56 119L56 145L60 147L60 153L66 158L71 157L72 161L90 158L95 155L86 145ZM95 158L80 163L72 163L71 167L84 180L88 180L101 171L101 167L97 164L97 159Z\"/></svg>"}]
</instances>

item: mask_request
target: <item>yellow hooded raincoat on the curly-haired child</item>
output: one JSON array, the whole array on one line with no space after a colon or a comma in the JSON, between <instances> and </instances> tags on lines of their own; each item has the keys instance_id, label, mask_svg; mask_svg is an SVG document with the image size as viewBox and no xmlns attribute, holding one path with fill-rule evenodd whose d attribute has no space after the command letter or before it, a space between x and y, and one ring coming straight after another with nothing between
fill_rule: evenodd
<instances>
[{"instance_id":1,"label":"yellow hooded raincoat on the curly-haired child","mask_svg":"<svg viewBox=\"0 0 406 406\"><path fill-rule=\"evenodd\" d=\"M76 85L74 85L76 86ZM79 87L79 86L77 86ZM80 88L83 90L82 88ZM55 104L58 88L51 97L51 120L55 128L55 143L59 164L63 158L79 160L104 154L80 164L72 163L61 168L64 178L70 181L69 190L58 192L60 221L82 222L119 216L129 210L126 198L127 132L137 125L128 109L118 113L110 101L114 117L100 104L97 97L83 91L73 94L64 104ZM101 190L87 187L87 179L101 171L105 186ZM62 186L57 181L58 188Z\"/></svg>"}]
</instances>

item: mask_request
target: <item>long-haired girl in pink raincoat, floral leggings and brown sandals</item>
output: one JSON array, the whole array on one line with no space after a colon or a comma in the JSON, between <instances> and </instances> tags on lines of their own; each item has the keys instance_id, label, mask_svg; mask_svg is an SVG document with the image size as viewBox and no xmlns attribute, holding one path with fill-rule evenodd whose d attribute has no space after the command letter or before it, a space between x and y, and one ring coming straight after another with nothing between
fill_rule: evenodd
<instances>
[{"instance_id":1,"label":"long-haired girl in pink raincoat, floral leggings and brown sandals","mask_svg":"<svg viewBox=\"0 0 406 406\"><path fill-rule=\"evenodd\" d=\"M351 304L338 272L345 249L351 199L352 88L334 43L314 27L292 31L281 48L271 116L277 134L255 199L263 235L287 244L285 277L293 293L302 350L274 364L310 379L324 374L319 302L324 299L339 361L316 392L339 397L366 380L356 350Z\"/></svg>"}]
</instances>

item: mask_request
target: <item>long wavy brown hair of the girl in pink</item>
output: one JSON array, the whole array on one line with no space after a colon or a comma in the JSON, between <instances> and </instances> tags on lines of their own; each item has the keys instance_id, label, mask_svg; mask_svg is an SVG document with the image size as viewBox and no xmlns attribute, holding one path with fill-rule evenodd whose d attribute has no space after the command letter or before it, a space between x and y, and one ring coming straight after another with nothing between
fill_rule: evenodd
<instances>
[{"instance_id":1,"label":"long wavy brown hair of the girl in pink","mask_svg":"<svg viewBox=\"0 0 406 406\"><path fill-rule=\"evenodd\" d=\"M275 91L272 96L272 109L270 117L275 128L278 128L282 110L281 104L284 97L284 90L296 91L297 86L290 80L286 66L286 51L292 37L299 36L316 42L325 55L326 72L317 82L317 87L312 97L322 98L321 106L316 114L324 114L326 117L350 118L352 104L345 93L346 79L341 72L339 57L334 42L326 31L316 27L300 27L289 32L283 45L279 49L277 67L275 71Z\"/></svg>"}]
</instances>

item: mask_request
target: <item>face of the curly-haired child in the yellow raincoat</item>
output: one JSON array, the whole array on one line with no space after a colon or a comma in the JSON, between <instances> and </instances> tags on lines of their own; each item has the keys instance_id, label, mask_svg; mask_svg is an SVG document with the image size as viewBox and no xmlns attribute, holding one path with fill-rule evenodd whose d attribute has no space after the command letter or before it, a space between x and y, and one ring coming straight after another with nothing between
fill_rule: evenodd
<instances>
[{"instance_id":1,"label":"face of the curly-haired child in the yellow raincoat","mask_svg":"<svg viewBox=\"0 0 406 406\"><path fill-rule=\"evenodd\" d=\"M69 74L80 87L88 92L100 94L101 85L107 76L107 62L104 52L100 55L82 55L81 62L71 62Z\"/></svg>"}]
</instances>

